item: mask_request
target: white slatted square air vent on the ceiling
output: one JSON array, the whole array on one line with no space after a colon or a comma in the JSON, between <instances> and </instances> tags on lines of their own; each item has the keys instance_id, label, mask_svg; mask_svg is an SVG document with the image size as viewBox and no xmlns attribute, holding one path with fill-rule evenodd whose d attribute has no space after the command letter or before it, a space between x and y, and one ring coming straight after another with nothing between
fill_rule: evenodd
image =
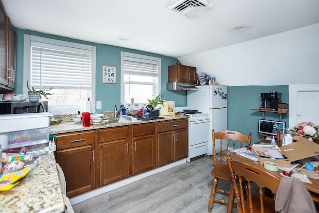
<instances>
[{"instance_id":1,"label":"white slatted square air vent on the ceiling","mask_svg":"<svg viewBox=\"0 0 319 213\"><path fill-rule=\"evenodd\" d=\"M168 5L168 8L187 17L191 17L212 6L213 4L206 0L178 0L175 3Z\"/></svg>"}]
</instances>

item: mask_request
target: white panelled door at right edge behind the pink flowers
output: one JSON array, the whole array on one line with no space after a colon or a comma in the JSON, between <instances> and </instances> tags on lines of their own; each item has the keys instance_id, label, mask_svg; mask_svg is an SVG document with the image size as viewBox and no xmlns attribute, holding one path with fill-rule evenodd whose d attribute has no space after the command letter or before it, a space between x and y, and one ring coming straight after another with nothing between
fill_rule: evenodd
<instances>
[{"instance_id":1,"label":"white panelled door at right edge behind the pink flowers","mask_svg":"<svg viewBox=\"0 0 319 213\"><path fill-rule=\"evenodd\" d=\"M300 122L319 124L319 84L289 85L289 127Z\"/></svg>"}]
</instances>

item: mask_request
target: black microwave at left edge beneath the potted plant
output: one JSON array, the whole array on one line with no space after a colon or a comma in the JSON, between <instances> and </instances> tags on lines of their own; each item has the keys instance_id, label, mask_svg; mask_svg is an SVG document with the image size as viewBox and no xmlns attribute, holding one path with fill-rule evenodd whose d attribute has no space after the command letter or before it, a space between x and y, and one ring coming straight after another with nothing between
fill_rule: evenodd
<instances>
[{"instance_id":1,"label":"black microwave at left edge beneath the potted plant","mask_svg":"<svg viewBox=\"0 0 319 213\"><path fill-rule=\"evenodd\" d=\"M47 112L48 102L2 102L0 103L0 115L4 114L24 114Z\"/></svg>"}]
</instances>

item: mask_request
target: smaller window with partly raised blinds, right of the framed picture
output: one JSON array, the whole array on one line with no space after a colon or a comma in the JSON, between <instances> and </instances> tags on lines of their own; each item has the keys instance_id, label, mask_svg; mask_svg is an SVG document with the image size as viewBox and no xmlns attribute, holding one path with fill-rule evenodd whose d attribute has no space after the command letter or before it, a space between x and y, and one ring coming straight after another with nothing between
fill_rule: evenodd
<instances>
[{"instance_id":1,"label":"smaller window with partly raised blinds, right of the framed picture","mask_svg":"<svg viewBox=\"0 0 319 213\"><path fill-rule=\"evenodd\" d=\"M160 93L160 58L121 52L121 101L148 103Z\"/></svg>"}]
</instances>

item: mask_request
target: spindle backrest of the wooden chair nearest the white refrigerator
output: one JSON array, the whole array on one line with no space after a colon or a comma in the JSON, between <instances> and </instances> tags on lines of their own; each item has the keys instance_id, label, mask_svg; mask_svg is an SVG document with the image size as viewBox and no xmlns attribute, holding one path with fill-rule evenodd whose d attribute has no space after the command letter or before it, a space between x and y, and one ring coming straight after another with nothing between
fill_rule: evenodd
<instances>
[{"instance_id":1,"label":"spindle backrest of the wooden chair nearest the white refrigerator","mask_svg":"<svg viewBox=\"0 0 319 213\"><path fill-rule=\"evenodd\" d=\"M228 145L232 143L232 148L235 149L235 146L239 144L239 148L242 147L242 143L246 142L248 146L251 144L251 132L249 135L244 135L241 132L233 130L222 130L215 132L215 129L212 129L213 135L213 156L214 156L214 166L217 164L217 153L216 147L218 146L222 150L223 144L226 143L226 153L228 152ZM216 139L219 139L220 142L216 143ZM219 153L218 159L219 162L222 162L222 152Z\"/></svg>"}]
</instances>

